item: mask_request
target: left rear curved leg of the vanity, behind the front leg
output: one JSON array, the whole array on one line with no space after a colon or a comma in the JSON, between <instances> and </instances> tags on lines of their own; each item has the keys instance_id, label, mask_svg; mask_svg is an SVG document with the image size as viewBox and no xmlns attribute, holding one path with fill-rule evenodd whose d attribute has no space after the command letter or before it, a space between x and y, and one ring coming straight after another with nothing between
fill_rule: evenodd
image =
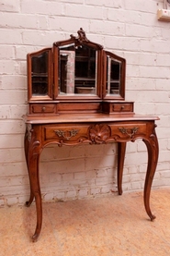
<instances>
[{"instance_id":1,"label":"left rear curved leg of the vanity, behind the front leg","mask_svg":"<svg viewBox=\"0 0 170 256\"><path fill-rule=\"evenodd\" d=\"M26 163L28 166L28 151L29 151L29 144L30 141L28 140L28 128L26 128L26 133L25 133L25 138L24 138L24 149L25 149L25 156L26 156ZM29 186L30 186L30 196L29 196L29 200L26 201L26 206L30 206L30 204L32 203L32 201L34 200L34 195L32 193L32 189L31 189L31 183L30 183L30 176L29 176L29 167L28 167L28 177L29 177Z\"/></svg>"}]
</instances>

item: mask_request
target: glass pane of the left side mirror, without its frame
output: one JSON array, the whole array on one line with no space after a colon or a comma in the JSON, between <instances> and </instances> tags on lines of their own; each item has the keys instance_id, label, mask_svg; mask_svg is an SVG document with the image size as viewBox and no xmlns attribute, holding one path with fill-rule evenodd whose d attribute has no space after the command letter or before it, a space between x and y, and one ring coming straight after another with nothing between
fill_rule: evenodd
<instances>
[{"instance_id":1,"label":"glass pane of the left side mirror, without its frame","mask_svg":"<svg viewBox=\"0 0 170 256\"><path fill-rule=\"evenodd\" d=\"M32 95L48 94L48 52L31 57Z\"/></svg>"}]
</instances>

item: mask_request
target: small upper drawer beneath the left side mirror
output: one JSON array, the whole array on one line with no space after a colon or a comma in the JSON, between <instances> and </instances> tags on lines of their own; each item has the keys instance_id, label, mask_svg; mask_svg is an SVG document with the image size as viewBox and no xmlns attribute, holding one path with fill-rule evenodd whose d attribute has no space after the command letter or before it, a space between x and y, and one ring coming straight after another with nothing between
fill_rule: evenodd
<instances>
[{"instance_id":1,"label":"small upper drawer beneath the left side mirror","mask_svg":"<svg viewBox=\"0 0 170 256\"><path fill-rule=\"evenodd\" d=\"M30 104L30 114L54 114L55 104Z\"/></svg>"}]
</instances>

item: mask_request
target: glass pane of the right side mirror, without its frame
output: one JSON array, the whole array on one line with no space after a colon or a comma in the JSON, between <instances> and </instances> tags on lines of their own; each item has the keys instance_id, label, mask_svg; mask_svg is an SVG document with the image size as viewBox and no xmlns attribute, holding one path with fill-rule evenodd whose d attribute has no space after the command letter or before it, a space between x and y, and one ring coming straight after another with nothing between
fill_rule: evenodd
<instances>
[{"instance_id":1,"label":"glass pane of the right side mirror, without its frame","mask_svg":"<svg viewBox=\"0 0 170 256\"><path fill-rule=\"evenodd\" d=\"M121 62L107 56L107 94L120 93L120 69Z\"/></svg>"}]
</instances>

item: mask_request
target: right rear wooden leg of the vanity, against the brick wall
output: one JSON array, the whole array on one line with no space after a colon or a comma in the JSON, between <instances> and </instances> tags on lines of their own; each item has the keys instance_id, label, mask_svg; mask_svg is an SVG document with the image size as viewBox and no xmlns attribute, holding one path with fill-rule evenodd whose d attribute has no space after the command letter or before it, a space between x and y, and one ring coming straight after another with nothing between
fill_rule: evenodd
<instances>
[{"instance_id":1,"label":"right rear wooden leg of the vanity, against the brick wall","mask_svg":"<svg viewBox=\"0 0 170 256\"><path fill-rule=\"evenodd\" d=\"M126 142L118 142L118 192L122 194L122 176L123 176L123 165L125 160Z\"/></svg>"}]
</instances>

